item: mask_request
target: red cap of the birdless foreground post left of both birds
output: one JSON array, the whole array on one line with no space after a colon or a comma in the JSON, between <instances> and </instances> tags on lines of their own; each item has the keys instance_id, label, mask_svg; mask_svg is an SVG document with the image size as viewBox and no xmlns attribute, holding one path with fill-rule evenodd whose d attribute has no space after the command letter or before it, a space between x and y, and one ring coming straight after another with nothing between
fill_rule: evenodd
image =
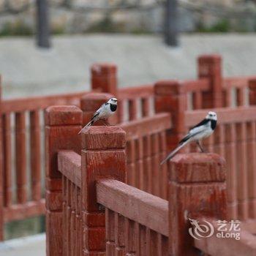
<instances>
[{"instance_id":1,"label":"red cap of the birdless foreground post left of both birds","mask_svg":"<svg viewBox=\"0 0 256 256\"><path fill-rule=\"evenodd\" d=\"M75 125L82 123L83 112L73 105L50 106L45 110L46 125Z\"/></svg>"}]
</instances>

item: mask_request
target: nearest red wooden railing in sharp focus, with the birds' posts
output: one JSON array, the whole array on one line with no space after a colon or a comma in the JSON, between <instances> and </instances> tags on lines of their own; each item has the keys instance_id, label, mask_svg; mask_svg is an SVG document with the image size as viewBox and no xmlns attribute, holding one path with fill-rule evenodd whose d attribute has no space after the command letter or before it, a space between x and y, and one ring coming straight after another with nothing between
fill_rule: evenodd
<instances>
[{"instance_id":1,"label":"nearest red wooden railing in sharp focus, with the birds' posts","mask_svg":"<svg viewBox=\"0 0 256 256\"><path fill-rule=\"evenodd\" d=\"M217 154L173 159L164 200L125 184L121 128L90 127L78 138L82 113L72 107L48 108L46 120L48 255L188 255L195 247L186 214L225 219L225 161Z\"/></svg>"}]
</instances>

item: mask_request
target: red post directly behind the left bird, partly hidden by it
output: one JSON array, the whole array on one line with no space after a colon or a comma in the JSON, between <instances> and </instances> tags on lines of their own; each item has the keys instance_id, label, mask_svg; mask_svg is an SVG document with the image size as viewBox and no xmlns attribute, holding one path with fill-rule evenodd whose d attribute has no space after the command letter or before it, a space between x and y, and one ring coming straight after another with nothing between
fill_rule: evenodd
<instances>
[{"instance_id":1,"label":"red post directly behind the left bird, partly hidden by it","mask_svg":"<svg viewBox=\"0 0 256 256\"><path fill-rule=\"evenodd\" d=\"M83 111L83 124L87 124L94 115L94 112L111 97L113 97L112 94L96 92L83 96L80 99L80 108ZM98 121L94 125L102 125L102 122Z\"/></svg>"}]
</instances>

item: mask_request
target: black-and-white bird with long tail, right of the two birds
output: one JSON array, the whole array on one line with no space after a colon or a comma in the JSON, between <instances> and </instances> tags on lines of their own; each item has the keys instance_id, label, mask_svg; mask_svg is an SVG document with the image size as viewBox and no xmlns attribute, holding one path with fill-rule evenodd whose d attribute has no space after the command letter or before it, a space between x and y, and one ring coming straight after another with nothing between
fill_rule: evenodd
<instances>
[{"instance_id":1,"label":"black-and-white bird with long tail, right of the two birds","mask_svg":"<svg viewBox=\"0 0 256 256\"><path fill-rule=\"evenodd\" d=\"M195 141L200 150L204 152L203 147L200 145L200 140L209 137L217 126L217 113L210 111L203 121L200 121L195 127L189 130L189 133L178 143L178 147L175 148L167 157L161 162L164 164L167 160L174 157L174 155L187 143Z\"/></svg>"}]
</instances>

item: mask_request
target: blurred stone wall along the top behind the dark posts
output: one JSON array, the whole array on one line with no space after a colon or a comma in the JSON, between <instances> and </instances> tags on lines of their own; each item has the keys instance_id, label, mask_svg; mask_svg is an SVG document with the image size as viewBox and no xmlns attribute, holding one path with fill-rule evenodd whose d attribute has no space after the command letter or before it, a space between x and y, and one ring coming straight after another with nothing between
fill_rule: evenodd
<instances>
[{"instance_id":1,"label":"blurred stone wall along the top behind the dark posts","mask_svg":"<svg viewBox=\"0 0 256 256\"><path fill-rule=\"evenodd\" d=\"M162 31L164 17L163 2L164 0L48 0L50 25L55 34L159 32ZM181 17L178 22L180 31L197 31L202 24L211 27L226 18L231 20L234 27L243 23L245 28L242 31L256 29L255 4L246 0L179 0L178 11ZM240 12L242 15L237 17ZM2 35L7 35L8 32L33 34L35 17L35 0L0 0Z\"/></svg>"}]
</instances>

